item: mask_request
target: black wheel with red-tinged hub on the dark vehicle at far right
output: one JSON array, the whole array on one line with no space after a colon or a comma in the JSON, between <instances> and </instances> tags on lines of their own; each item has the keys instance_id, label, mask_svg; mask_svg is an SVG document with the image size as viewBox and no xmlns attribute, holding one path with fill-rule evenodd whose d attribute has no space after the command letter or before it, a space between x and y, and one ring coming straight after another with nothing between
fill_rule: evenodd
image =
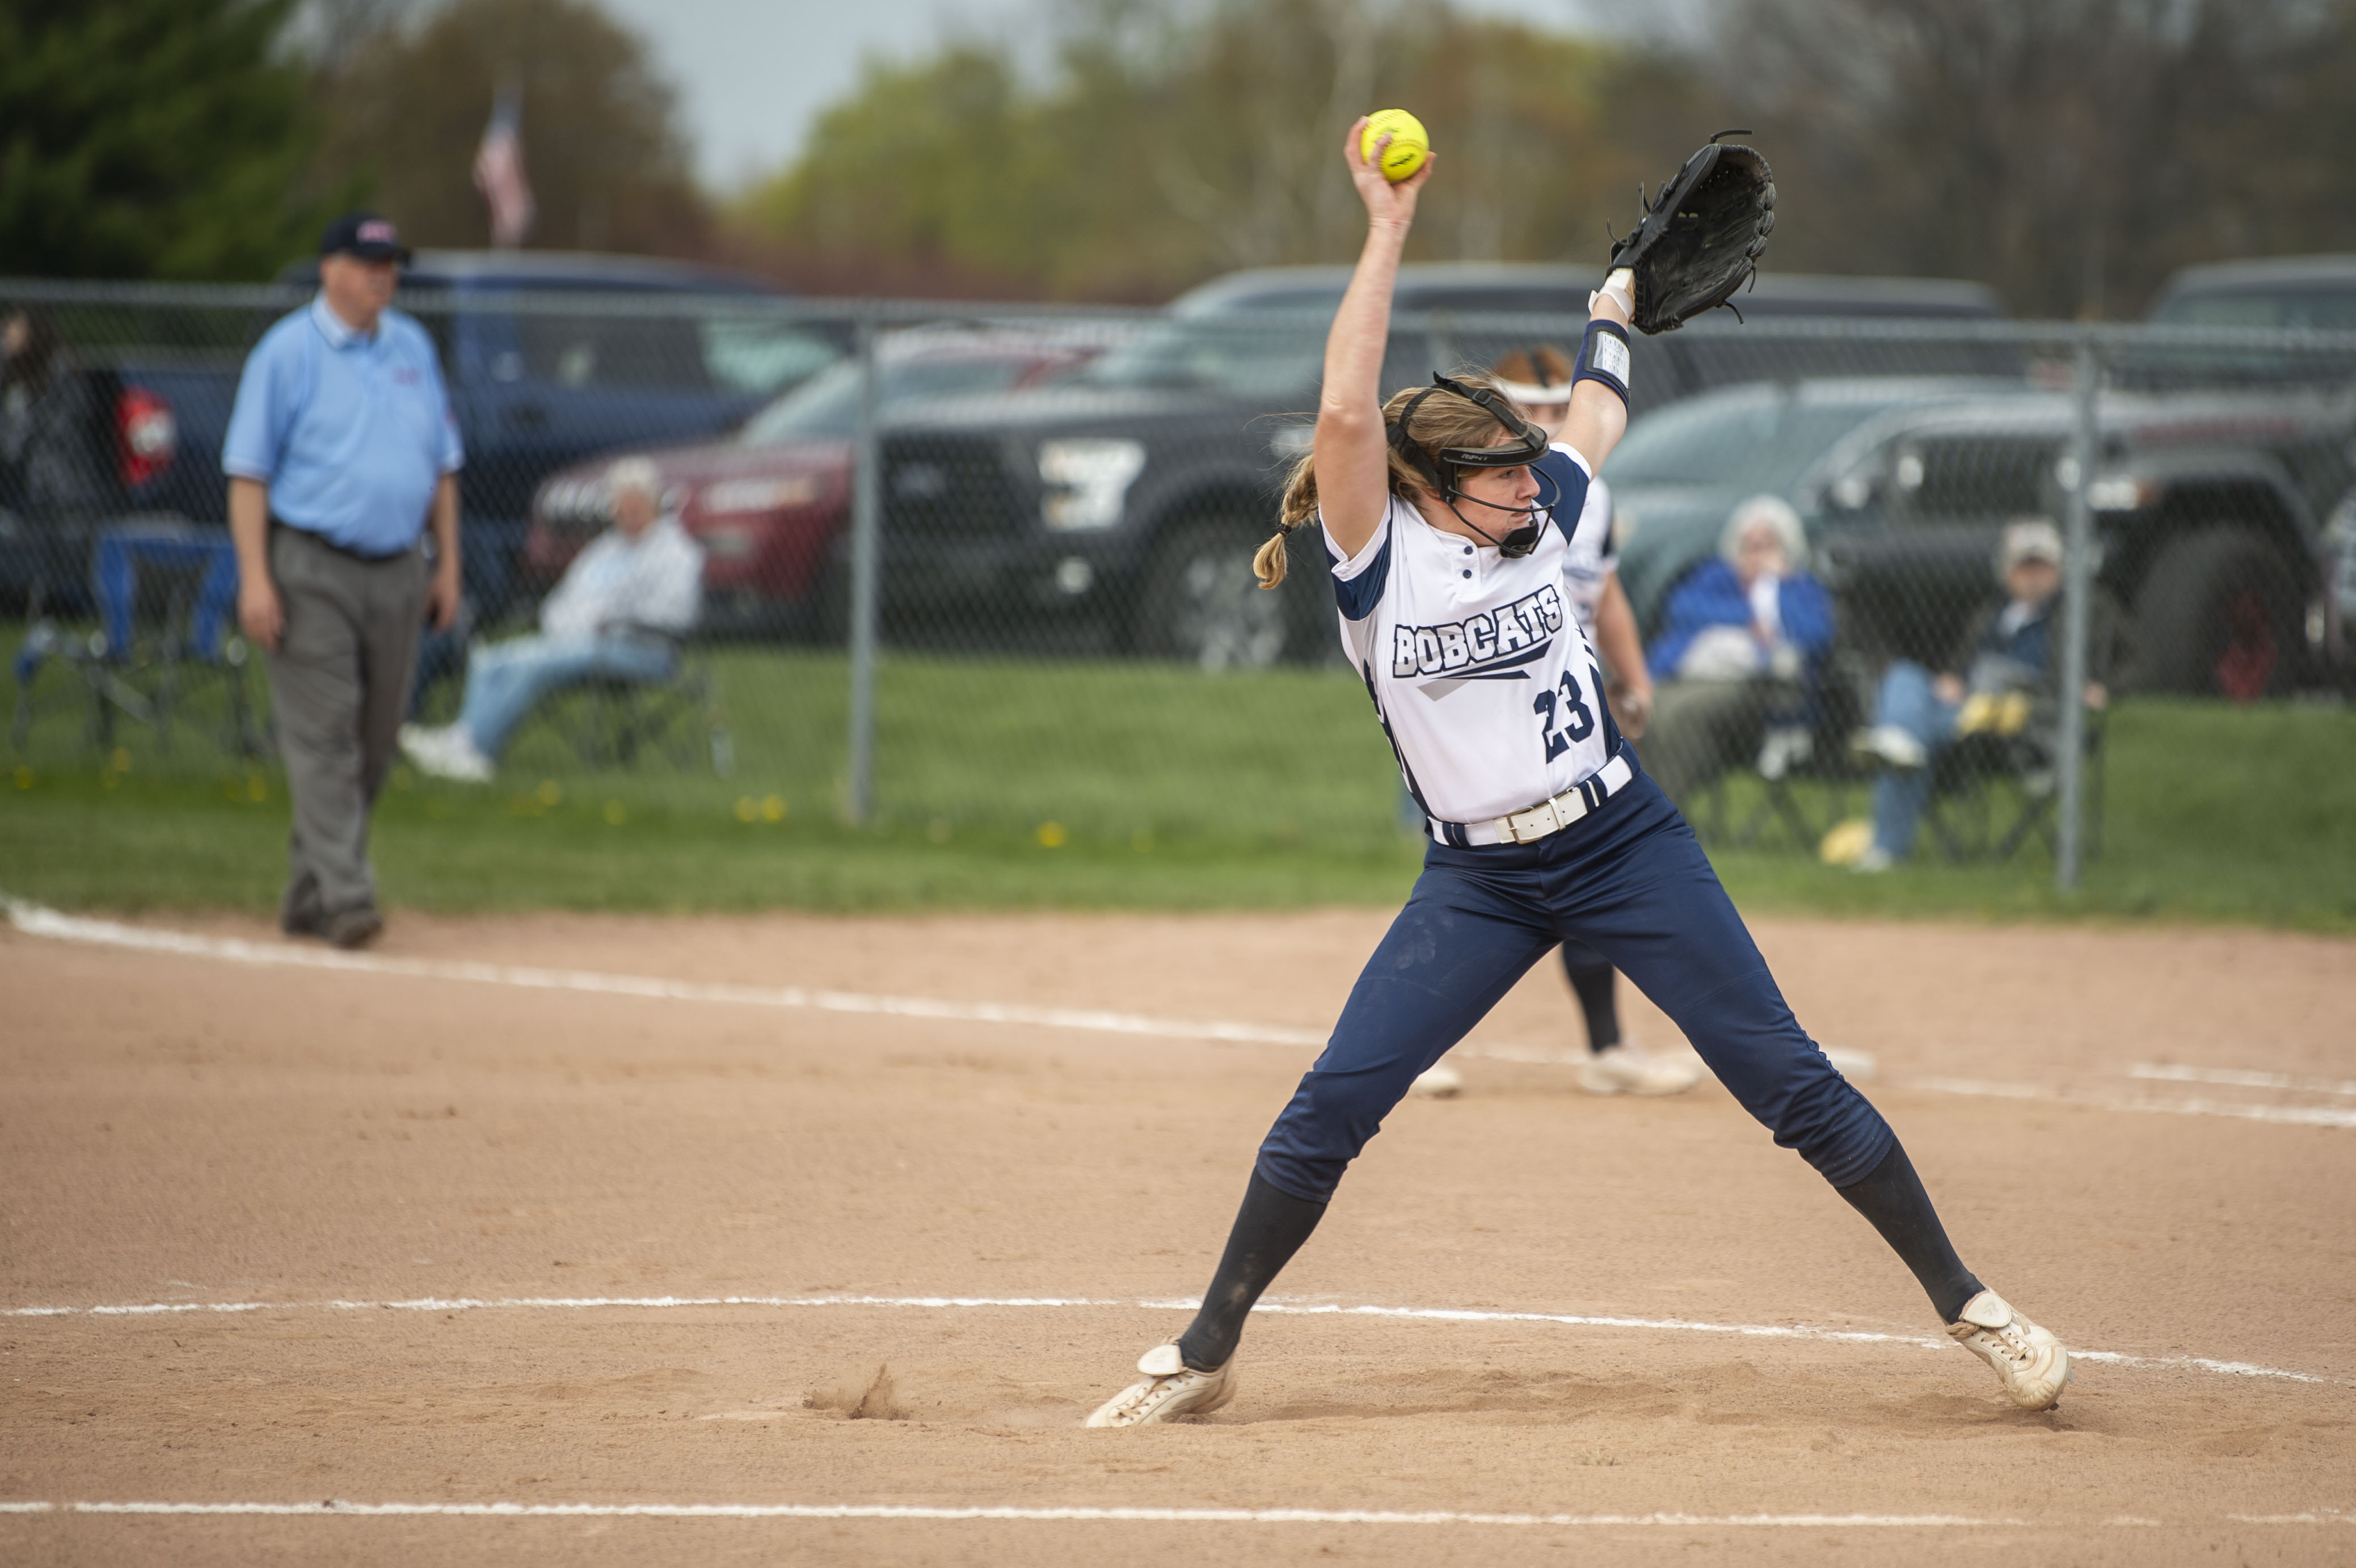
<instances>
[{"instance_id":1,"label":"black wheel with red-tinged hub on the dark vehicle at far right","mask_svg":"<svg viewBox=\"0 0 2356 1568\"><path fill-rule=\"evenodd\" d=\"M2137 685L2233 702L2278 695L2297 673L2299 626L2299 586L2262 534L2186 534L2135 598Z\"/></svg>"}]
</instances>

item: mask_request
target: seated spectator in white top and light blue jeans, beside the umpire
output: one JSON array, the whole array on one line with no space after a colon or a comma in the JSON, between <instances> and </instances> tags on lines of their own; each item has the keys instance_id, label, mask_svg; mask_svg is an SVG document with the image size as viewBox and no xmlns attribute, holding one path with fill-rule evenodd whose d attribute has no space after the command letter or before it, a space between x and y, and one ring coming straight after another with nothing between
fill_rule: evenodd
<instances>
[{"instance_id":1,"label":"seated spectator in white top and light blue jeans, beside the umpire","mask_svg":"<svg viewBox=\"0 0 2356 1568\"><path fill-rule=\"evenodd\" d=\"M476 647L455 725L401 725L401 751L443 779L481 784L516 725L549 695L582 680L662 680L674 638L702 610L704 551L660 511L662 476L643 457L605 471L613 527L584 549L547 603L540 636Z\"/></svg>"}]
</instances>

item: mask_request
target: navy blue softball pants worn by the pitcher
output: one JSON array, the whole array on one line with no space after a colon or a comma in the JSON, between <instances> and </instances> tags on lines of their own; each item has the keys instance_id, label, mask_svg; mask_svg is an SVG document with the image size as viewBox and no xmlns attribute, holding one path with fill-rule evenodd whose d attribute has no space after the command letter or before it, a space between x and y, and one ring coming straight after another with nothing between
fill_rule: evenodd
<instances>
[{"instance_id":1,"label":"navy blue softball pants worn by the pitcher","mask_svg":"<svg viewBox=\"0 0 2356 1568\"><path fill-rule=\"evenodd\" d=\"M1258 1170L1324 1203L1414 1083L1557 942L1586 942L1666 1012L1776 1144L1833 1187L1897 1137L1791 1015L1694 831L1642 772L1527 845L1432 845Z\"/></svg>"}]
</instances>

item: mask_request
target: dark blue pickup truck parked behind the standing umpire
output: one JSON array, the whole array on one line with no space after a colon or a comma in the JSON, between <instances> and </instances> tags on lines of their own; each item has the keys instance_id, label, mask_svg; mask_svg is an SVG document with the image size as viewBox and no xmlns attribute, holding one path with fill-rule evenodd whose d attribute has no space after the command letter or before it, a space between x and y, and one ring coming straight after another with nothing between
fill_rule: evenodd
<instances>
[{"instance_id":1,"label":"dark blue pickup truck parked behind the standing umpire","mask_svg":"<svg viewBox=\"0 0 2356 1568\"><path fill-rule=\"evenodd\" d=\"M113 428L90 450L113 454L101 480L111 516L221 523L221 440L247 346L316 285L316 264L287 268L283 304L134 301L87 318L78 348L94 384L87 407ZM302 292L297 292L302 290ZM726 431L782 388L841 358L848 330L777 311L770 285L704 266L568 252L422 250L396 308L426 327L466 443L466 591L497 614L523 582L518 558L540 480L591 452ZM742 308L730 311L730 301ZM42 520L26 520L40 527ZM52 530L54 556L87 558L87 539ZM71 584L75 572L49 574Z\"/></svg>"}]
</instances>

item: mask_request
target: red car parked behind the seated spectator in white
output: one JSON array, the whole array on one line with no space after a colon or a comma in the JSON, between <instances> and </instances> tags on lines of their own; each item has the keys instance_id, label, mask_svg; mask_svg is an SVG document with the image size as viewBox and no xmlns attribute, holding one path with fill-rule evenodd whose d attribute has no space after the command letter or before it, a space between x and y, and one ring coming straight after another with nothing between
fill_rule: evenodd
<instances>
[{"instance_id":1,"label":"red car parked behind the seated spectator in white","mask_svg":"<svg viewBox=\"0 0 2356 1568\"><path fill-rule=\"evenodd\" d=\"M876 344L879 407L1004 396L1086 363L1084 341L997 327L916 327ZM820 584L851 523L855 360L836 360L723 440L638 452L662 471L664 509L704 546L704 619L787 626L822 617ZM532 497L525 570L537 589L613 520L605 469L622 452L558 469Z\"/></svg>"}]
</instances>

